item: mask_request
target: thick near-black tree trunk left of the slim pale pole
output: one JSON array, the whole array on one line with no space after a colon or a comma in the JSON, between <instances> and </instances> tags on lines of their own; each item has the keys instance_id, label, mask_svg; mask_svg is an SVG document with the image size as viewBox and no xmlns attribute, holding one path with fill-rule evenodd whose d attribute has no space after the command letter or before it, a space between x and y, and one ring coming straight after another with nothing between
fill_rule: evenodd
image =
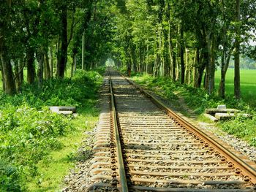
<instances>
[{"instance_id":1,"label":"thick near-black tree trunk left of the slim pale pole","mask_svg":"<svg viewBox=\"0 0 256 192\"><path fill-rule=\"evenodd\" d=\"M64 77L67 64L67 6L61 10L61 53L57 66L57 77Z\"/></svg>"}]
</instances>

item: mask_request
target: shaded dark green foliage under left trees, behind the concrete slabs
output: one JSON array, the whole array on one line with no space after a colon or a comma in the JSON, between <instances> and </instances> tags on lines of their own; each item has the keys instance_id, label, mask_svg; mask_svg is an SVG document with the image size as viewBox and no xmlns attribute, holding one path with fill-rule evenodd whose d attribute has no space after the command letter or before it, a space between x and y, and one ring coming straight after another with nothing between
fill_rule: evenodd
<instances>
[{"instance_id":1,"label":"shaded dark green foliage under left trees, behind the concrete slabs","mask_svg":"<svg viewBox=\"0 0 256 192\"><path fill-rule=\"evenodd\" d=\"M0 105L26 104L37 109L45 105L82 106L86 97L88 99L97 90L97 80L100 80L97 72L78 70L72 80L69 78L45 80L42 90L37 84L26 84L18 95L1 95Z\"/></svg>"}]
</instances>

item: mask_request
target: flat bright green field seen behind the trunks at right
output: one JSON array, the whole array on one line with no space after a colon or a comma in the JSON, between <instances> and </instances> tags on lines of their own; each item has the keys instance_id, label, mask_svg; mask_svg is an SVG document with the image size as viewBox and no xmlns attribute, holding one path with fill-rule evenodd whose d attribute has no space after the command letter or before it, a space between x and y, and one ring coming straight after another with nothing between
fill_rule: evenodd
<instances>
[{"instance_id":1,"label":"flat bright green field seen behind the trunks at right","mask_svg":"<svg viewBox=\"0 0 256 192\"><path fill-rule=\"evenodd\" d=\"M220 70L216 72L216 88L219 88ZM234 93L234 69L227 69L226 93ZM256 70L241 69L241 96L248 104L256 106Z\"/></svg>"}]
</instances>

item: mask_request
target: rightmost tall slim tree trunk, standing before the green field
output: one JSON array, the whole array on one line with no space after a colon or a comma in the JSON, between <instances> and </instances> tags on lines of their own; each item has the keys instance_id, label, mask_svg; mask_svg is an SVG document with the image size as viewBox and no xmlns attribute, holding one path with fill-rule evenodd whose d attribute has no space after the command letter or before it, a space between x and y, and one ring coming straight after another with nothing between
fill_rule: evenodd
<instances>
[{"instance_id":1,"label":"rightmost tall slim tree trunk, standing before the green field","mask_svg":"<svg viewBox=\"0 0 256 192\"><path fill-rule=\"evenodd\" d=\"M240 21L240 0L236 0L236 22ZM240 90L240 28L236 27L236 41L235 41L235 77L234 77L234 93L236 99L241 98Z\"/></svg>"}]
</instances>

